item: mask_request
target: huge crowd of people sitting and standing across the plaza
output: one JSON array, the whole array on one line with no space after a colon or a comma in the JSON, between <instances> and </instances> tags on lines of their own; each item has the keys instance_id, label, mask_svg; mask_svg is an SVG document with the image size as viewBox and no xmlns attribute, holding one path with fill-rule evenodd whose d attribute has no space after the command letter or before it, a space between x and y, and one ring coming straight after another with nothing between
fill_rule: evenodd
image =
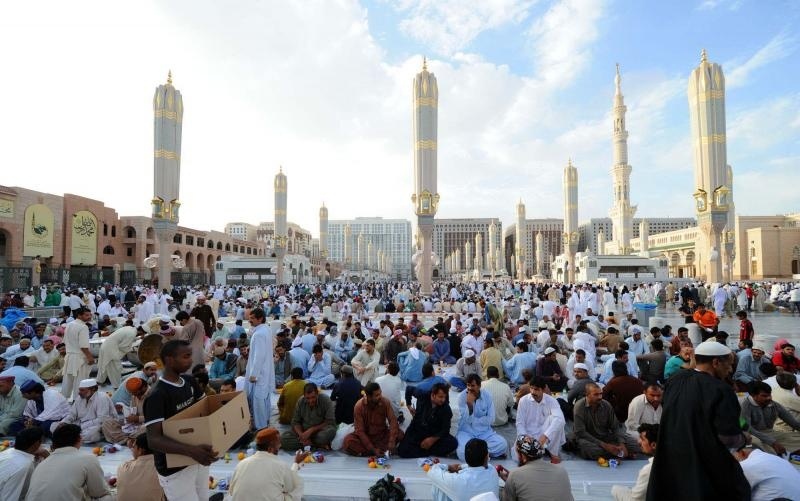
<instances>
[{"instance_id":1,"label":"huge crowd of people sitting and standing across the plaza","mask_svg":"<svg viewBox=\"0 0 800 501\"><path fill-rule=\"evenodd\" d=\"M252 423L237 445L256 453L236 467L235 500L299 499L306 456L334 447L457 458L428 470L434 499L572 499L561 463L581 459L643 461L616 499L800 499L788 461L800 453L800 360L751 320L774 290L503 282L422 295L376 282L7 294L6 312L23 315L0 327L0 434L16 437L0 453L0 498L112 496L97 458L79 451L109 442L134 455L117 499L208 499L209 465L226 451L177 442L161 424L206 395L243 391ZM24 315L38 302L60 315ZM635 303L683 323L640 325ZM740 326L733 350L725 316ZM160 362L126 374L126 355L153 334ZM169 468L166 454L196 464ZM519 468L489 465L505 458ZM75 472L69 487L54 468Z\"/></svg>"}]
</instances>

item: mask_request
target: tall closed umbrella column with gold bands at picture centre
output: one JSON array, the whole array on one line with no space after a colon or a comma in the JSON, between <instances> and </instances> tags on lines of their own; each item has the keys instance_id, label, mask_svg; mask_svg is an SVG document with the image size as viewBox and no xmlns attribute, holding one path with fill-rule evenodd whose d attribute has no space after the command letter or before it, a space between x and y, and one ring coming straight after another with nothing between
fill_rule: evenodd
<instances>
[{"instance_id":1,"label":"tall closed umbrella column with gold bands at picture centre","mask_svg":"<svg viewBox=\"0 0 800 501\"><path fill-rule=\"evenodd\" d=\"M414 128L414 194L411 201L417 215L418 245L422 254L420 259L420 293L431 294L433 276L433 218L439 208L439 193L436 187L437 134L439 88L436 77L428 72L427 61L423 59L422 71L414 77L413 128Z\"/></svg>"}]
</instances>

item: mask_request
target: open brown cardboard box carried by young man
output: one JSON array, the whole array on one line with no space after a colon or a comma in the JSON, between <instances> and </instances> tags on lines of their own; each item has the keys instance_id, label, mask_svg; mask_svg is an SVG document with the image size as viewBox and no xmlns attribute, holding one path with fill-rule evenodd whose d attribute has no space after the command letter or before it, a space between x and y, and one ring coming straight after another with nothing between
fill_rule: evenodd
<instances>
[{"instance_id":1,"label":"open brown cardboard box carried by young man","mask_svg":"<svg viewBox=\"0 0 800 501\"><path fill-rule=\"evenodd\" d=\"M250 408L242 391L206 397L163 423L164 435L189 445L207 444L222 457L250 429ZM189 466L197 461L167 454L167 466Z\"/></svg>"}]
</instances>

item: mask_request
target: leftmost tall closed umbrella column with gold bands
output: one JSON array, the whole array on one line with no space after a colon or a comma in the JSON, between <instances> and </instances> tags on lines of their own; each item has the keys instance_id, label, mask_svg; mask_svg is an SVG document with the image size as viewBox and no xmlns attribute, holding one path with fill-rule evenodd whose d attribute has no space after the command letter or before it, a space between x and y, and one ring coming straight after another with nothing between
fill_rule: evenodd
<instances>
[{"instance_id":1,"label":"leftmost tall closed umbrella column with gold bands","mask_svg":"<svg viewBox=\"0 0 800 501\"><path fill-rule=\"evenodd\" d=\"M172 86L172 71L167 83L159 85L153 96L153 229L158 239L158 287L171 290L172 239L178 229L181 183L181 135L183 98Z\"/></svg>"}]
</instances>

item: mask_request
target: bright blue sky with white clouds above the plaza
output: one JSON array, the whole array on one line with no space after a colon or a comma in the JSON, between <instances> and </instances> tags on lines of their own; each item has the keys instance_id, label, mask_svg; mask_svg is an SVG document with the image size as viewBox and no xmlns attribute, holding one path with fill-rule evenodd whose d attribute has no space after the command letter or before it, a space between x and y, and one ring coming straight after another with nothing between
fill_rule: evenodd
<instances>
[{"instance_id":1,"label":"bright blue sky with white clouds above the plaza","mask_svg":"<svg viewBox=\"0 0 800 501\"><path fill-rule=\"evenodd\" d=\"M171 68L186 108L182 224L272 220L278 165L289 219L315 234L323 201L332 219L413 220L411 81L427 55L441 217L507 225L519 197L529 218L561 217L570 157L580 219L603 217L619 62L637 215L687 216L686 85L706 48L728 83L737 212L800 210L798 2L43 3L0 5L0 44L14 47L0 81L5 185L147 214L150 100ZM76 171L89 179L64 175Z\"/></svg>"}]
</instances>

